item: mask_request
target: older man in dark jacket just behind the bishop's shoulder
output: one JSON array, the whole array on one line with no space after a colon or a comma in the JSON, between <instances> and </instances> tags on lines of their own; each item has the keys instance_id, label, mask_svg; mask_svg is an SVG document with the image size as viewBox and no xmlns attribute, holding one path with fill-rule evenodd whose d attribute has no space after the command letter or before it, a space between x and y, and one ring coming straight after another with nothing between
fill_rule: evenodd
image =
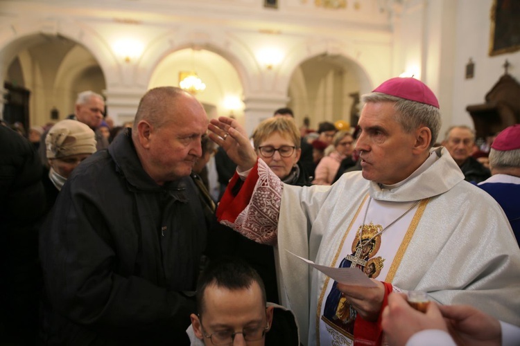
<instances>
[{"instance_id":1,"label":"older man in dark jacket just behind the bishop's shoulder","mask_svg":"<svg viewBox=\"0 0 520 346\"><path fill-rule=\"evenodd\" d=\"M448 149L466 181L480 183L485 181L491 173L484 165L471 156L475 145L475 133L465 125L452 126L446 131L442 145Z\"/></svg>"}]
</instances>

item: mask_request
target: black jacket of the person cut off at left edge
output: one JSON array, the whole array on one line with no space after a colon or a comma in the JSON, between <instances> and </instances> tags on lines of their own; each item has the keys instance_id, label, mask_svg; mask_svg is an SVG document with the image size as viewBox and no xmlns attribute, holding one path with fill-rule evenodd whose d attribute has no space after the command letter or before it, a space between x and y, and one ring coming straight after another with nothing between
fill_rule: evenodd
<instances>
[{"instance_id":1,"label":"black jacket of the person cut off at left edge","mask_svg":"<svg viewBox=\"0 0 520 346\"><path fill-rule=\"evenodd\" d=\"M36 343L42 275L38 229L42 163L31 143L0 125L0 344Z\"/></svg>"}]
</instances>

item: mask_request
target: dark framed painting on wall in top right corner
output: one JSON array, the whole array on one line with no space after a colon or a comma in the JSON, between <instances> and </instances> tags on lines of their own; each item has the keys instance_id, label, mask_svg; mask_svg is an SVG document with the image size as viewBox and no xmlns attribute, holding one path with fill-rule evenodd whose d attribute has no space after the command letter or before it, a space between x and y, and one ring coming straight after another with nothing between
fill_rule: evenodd
<instances>
[{"instance_id":1,"label":"dark framed painting on wall in top right corner","mask_svg":"<svg viewBox=\"0 0 520 346\"><path fill-rule=\"evenodd\" d=\"M489 55L520 50L520 1L493 0Z\"/></svg>"}]
</instances>

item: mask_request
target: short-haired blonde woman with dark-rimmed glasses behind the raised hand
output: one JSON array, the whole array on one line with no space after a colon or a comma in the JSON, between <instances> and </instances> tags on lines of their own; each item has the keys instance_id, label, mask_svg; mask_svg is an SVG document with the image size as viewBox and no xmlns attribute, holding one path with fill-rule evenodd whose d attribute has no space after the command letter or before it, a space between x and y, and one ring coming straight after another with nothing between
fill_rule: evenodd
<instances>
[{"instance_id":1,"label":"short-haired blonde woman with dark-rimmed glasses behind the raised hand","mask_svg":"<svg viewBox=\"0 0 520 346\"><path fill-rule=\"evenodd\" d=\"M292 118L274 117L261 122L254 130L254 149L281 181L289 185L309 186L309 174L298 163L300 130Z\"/></svg>"}]
</instances>

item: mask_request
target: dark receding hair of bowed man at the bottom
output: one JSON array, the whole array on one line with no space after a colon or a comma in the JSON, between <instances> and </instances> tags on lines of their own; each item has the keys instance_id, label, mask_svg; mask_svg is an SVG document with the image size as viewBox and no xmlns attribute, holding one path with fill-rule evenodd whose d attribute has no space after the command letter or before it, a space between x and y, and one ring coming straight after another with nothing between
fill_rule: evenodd
<instances>
[{"instance_id":1,"label":"dark receding hair of bowed man at the bottom","mask_svg":"<svg viewBox=\"0 0 520 346\"><path fill-rule=\"evenodd\" d=\"M202 318L205 310L204 293L208 286L214 285L229 291L236 291L249 289L254 282L260 286L262 304L266 307L266 289L260 275L249 264L235 257L223 257L211 262L200 275L197 284L196 300L199 318Z\"/></svg>"}]
</instances>

